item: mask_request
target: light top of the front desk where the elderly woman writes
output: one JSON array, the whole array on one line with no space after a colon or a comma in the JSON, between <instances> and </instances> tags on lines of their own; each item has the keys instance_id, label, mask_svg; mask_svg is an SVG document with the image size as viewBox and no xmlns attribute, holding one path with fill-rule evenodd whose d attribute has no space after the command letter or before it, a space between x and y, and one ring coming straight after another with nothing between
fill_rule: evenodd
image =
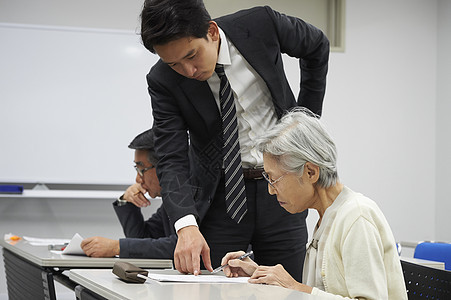
<instances>
[{"instance_id":1,"label":"light top of the front desk where the elderly woman writes","mask_svg":"<svg viewBox=\"0 0 451 300\"><path fill-rule=\"evenodd\" d=\"M151 270L179 274L176 270ZM111 270L72 269L69 278L107 299L278 299L313 300L315 296L277 286L250 283L169 283L147 280L143 284L121 281Z\"/></svg>"}]
</instances>

